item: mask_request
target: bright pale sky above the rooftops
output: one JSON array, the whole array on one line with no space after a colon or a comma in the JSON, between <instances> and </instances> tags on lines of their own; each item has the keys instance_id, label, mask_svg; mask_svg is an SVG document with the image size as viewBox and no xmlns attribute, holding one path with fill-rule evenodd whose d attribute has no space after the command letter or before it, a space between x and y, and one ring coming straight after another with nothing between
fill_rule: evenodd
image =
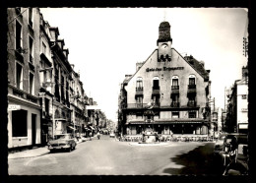
<instances>
[{"instance_id":1,"label":"bright pale sky above the rooftops","mask_svg":"<svg viewBox=\"0 0 256 183\"><path fill-rule=\"evenodd\" d=\"M58 27L86 94L115 122L120 84L157 48L163 21L171 26L172 47L204 61L211 70L216 107L224 108L224 89L241 79L241 68L247 65L242 52L247 32L243 8L40 8L40 12L51 27Z\"/></svg>"}]
</instances>

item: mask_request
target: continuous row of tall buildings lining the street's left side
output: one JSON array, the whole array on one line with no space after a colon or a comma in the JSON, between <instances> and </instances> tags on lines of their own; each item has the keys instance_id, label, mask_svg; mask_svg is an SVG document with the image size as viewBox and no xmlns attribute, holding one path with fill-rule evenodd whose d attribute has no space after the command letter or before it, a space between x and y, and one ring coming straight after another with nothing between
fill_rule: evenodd
<instances>
[{"instance_id":1,"label":"continuous row of tall buildings lining the street's left side","mask_svg":"<svg viewBox=\"0 0 256 183\"><path fill-rule=\"evenodd\" d=\"M58 134L85 133L95 118L90 119L89 98L58 28L38 8L7 11L8 148L31 148Z\"/></svg>"}]
</instances>

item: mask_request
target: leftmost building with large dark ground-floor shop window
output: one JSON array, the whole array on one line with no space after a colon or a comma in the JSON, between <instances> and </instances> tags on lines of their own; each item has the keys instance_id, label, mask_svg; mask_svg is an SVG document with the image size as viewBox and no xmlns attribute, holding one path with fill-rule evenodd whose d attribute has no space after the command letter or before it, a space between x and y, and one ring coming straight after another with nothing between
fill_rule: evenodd
<instances>
[{"instance_id":1,"label":"leftmost building with large dark ground-floor shop window","mask_svg":"<svg viewBox=\"0 0 256 183\"><path fill-rule=\"evenodd\" d=\"M8 148L41 144L39 9L8 8Z\"/></svg>"}]
</instances>

